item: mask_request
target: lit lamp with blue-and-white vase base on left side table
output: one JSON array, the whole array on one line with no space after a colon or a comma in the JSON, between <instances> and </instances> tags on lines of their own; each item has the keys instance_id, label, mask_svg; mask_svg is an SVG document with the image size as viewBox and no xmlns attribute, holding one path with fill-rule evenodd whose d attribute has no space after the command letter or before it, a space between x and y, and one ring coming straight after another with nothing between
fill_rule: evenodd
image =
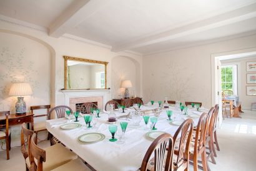
<instances>
[{"instance_id":1,"label":"lit lamp with blue-and-white vase base on left side table","mask_svg":"<svg viewBox=\"0 0 256 171\"><path fill-rule=\"evenodd\" d=\"M29 83L13 83L11 85L9 96L18 96L17 103L15 104L17 114L26 113L26 103L23 100L24 97L22 96L27 95L32 95L32 90Z\"/></svg>"}]
</instances>

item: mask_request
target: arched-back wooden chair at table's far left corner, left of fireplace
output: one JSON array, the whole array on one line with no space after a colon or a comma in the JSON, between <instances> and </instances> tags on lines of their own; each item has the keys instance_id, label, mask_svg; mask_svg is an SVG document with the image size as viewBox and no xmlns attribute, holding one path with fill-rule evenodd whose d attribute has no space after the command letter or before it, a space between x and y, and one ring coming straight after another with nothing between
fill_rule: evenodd
<instances>
[{"instance_id":1,"label":"arched-back wooden chair at table's far left corner, left of fireplace","mask_svg":"<svg viewBox=\"0 0 256 171\"><path fill-rule=\"evenodd\" d=\"M49 111L48 119L55 119L57 118L65 118L66 111L71 111L71 114L73 113L72 109L69 108L69 106L56 106ZM49 133L49 139L51 142L51 146L57 143L61 143L56 137L54 137L51 133Z\"/></svg>"}]
</instances>

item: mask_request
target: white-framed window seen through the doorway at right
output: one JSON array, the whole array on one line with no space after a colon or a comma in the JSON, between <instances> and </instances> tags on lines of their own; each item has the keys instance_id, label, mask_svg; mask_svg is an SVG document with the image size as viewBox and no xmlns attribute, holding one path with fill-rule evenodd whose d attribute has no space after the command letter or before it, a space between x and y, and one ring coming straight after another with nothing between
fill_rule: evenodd
<instances>
[{"instance_id":1,"label":"white-framed window seen through the doorway at right","mask_svg":"<svg viewBox=\"0 0 256 171\"><path fill-rule=\"evenodd\" d=\"M237 65L221 67L222 90L232 90L237 95Z\"/></svg>"}]
</instances>

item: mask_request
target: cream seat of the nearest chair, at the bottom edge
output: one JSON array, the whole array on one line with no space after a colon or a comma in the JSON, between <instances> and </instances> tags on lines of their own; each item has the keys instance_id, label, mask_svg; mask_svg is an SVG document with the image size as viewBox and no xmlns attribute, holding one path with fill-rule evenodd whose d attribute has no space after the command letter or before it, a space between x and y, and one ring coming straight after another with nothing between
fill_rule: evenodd
<instances>
[{"instance_id":1,"label":"cream seat of the nearest chair, at the bottom edge","mask_svg":"<svg viewBox=\"0 0 256 171\"><path fill-rule=\"evenodd\" d=\"M71 160L70 162L53 169L52 171L69 171L69 170L76 170L76 171L91 171L89 167L87 167L80 159Z\"/></svg>"}]
</instances>

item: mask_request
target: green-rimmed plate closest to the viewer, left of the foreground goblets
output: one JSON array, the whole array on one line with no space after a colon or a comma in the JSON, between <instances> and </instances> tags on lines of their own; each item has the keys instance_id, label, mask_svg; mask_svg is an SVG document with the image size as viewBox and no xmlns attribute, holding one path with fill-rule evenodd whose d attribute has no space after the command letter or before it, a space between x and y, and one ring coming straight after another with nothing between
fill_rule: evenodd
<instances>
[{"instance_id":1,"label":"green-rimmed plate closest to the viewer, left of the foreground goblets","mask_svg":"<svg viewBox=\"0 0 256 171\"><path fill-rule=\"evenodd\" d=\"M105 135L97 132L91 132L87 134L82 134L78 137L78 141L84 142L86 144L92 144L105 139Z\"/></svg>"}]
</instances>

